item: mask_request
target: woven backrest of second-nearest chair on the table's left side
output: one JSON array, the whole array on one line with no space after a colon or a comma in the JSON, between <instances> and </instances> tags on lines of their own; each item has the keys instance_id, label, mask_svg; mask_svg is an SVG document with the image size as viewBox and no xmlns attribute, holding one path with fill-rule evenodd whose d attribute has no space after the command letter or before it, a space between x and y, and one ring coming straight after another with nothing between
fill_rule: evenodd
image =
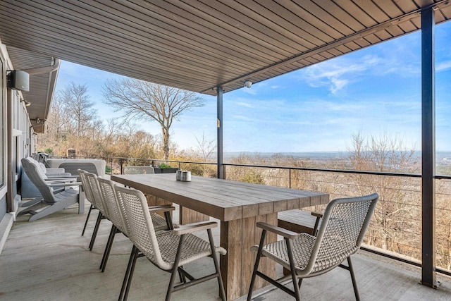
<instances>
[{"instance_id":1,"label":"woven backrest of second-nearest chair on the table's left side","mask_svg":"<svg viewBox=\"0 0 451 301\"><path fill-rule=\"evenodd\" d=\"M125 228L125 223L122 219L121 212L119 209L118 199L116 197L116 190L114 188L114 183L112 180L97 178L99 181L99 188L101 195L104 199L104 205L109 214L109 219L116 228L119 229L123 234L128 236L127 229Z\"/></svg>"}]
</instances>

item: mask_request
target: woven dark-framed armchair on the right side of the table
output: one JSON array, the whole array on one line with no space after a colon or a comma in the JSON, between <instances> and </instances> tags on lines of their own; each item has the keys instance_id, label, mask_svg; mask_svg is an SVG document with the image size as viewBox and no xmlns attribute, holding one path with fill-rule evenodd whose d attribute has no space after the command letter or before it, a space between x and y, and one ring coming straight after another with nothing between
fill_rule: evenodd
<instances>
[{"instance_id":1,"label":"woven dark-framed armchair on the right side of the table","mask_svg":"<svg viewBox=\"0 0 451 301\"><path fill-rule=\"evenodd\" d=\"M301 300L300 287L303 278L324 274L337 266L350 271L352 286L357 300L359 291L352 269L351 255L355 254L369 226L378 195L364 197L349 197L334 199L326 207L323 220L316 236L285 230L267 223L257 223L263 229L259 245L251 247L257 252L254 272L249 286L247 301L252 298L252 289L256 276L264 278L296 298ZM284 240L264 244L266 231L282 235ZM258 271L261 256L268 257L276 263L290 269L290 275L274 280ZM347 266L342 264L347 259ZM284 283L292 279L294 290L287 288ZM298 281L299 280L299 281Z\"/></svg>"}]
</instances>

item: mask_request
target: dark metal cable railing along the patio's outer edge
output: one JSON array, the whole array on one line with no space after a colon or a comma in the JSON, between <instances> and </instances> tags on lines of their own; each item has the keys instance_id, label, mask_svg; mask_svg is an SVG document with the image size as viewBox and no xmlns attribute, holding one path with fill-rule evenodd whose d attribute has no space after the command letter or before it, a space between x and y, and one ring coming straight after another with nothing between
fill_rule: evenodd
<instances>
[{"instance_id":1,"label":"dark metal cable railing along the patio's outer edge","mask_svg":"<svg viewBox=\"0 0 451 301\"><path fill-rule=\"evenodd\" d=\"M125 157L102 158L111 173L123 166L160 163L216 177L216 162L164 161ZM328 192L330 198L378 192L380 200L369 230L366 250L421 266L421 175L380 171L255 164L223 164L226 179ZM451 176L435 176L437 271L451 275ZM321 210L322 208L311 208Z\"/></svg>"}]
</instances>

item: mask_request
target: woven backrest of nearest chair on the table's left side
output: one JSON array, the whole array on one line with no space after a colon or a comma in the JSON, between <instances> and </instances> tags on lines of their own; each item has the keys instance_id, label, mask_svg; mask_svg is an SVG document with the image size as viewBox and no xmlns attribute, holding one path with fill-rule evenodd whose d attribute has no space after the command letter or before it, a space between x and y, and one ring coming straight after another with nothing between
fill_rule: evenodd
<instances>
[{"instance_id":1,"label":"woven backrest of nearest chair on the table's left side","mask_svg":"<svg viewBox=\"0 0 451 301\"><path fill-rule=\"evenodd\" d=\"M146 197L140 190L123 188L118 185L115 185L114 188L128 238L151 262L157 266L164 265ZM174 250L174 252L176 251Z\"/></svg>"}]
</instances>

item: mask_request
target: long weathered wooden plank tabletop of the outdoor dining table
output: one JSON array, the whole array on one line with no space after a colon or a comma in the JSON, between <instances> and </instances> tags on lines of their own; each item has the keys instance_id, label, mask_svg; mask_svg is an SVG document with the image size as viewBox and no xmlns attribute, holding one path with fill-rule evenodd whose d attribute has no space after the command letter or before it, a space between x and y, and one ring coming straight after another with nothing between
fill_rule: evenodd
<instances>
[{"instance_id":1,"label":"long weathered wooden plank tabletop of the outdoor dining table","mask_svg":"<svg viewBox=\"0 0 451 301\"><path fill-rule=\"evenodd\" d=\"M111 180L221 221L233 221L329 202L329 195L323 192L200 176L192 176L190 182L183 182L175 180L175 173L112 175Z\"/></svg>"}]
</instances>

